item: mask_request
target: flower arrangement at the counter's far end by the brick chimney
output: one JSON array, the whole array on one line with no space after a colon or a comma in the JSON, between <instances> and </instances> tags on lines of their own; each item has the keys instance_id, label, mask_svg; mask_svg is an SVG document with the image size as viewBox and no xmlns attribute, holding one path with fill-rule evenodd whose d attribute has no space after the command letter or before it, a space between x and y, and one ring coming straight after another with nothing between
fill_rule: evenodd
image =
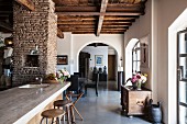
<instances>
[{"instance_id":1,"label":"flower arrangement at the counter's far end by the brick chimney","mask_svg":"<svg viewBox=\"0 0 187 124\"><path fill-rule=\"evenodd\" d=\"M56 74L50 74L46 76L47 80L56 80L56 81L58 80L64 81L67 78L70 78L70 75L66 69L61 69L56 71Z\"/></svg>"}]
</instances>

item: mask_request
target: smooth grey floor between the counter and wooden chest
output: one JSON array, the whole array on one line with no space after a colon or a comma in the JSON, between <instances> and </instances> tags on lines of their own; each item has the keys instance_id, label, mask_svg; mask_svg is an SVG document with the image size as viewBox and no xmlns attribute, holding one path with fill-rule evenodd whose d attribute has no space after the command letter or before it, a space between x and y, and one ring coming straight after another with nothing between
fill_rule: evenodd
<instances>
[{"instance_id":1,"label":"smooth grey floor between the counter and wooden chest","mask_svg":"<svg viewBox=\"0 0 187 124\"><path fill-rule=\"evenodd\" d=\"M125 116L120 105L120 92L117 91L116 82L108 81L99 86L99 95L96 97L94 89L88 89L87 97L81 98L76 108L82 115L84 121L76 114L76 124L151 124L142 116Z\"/></svg>"}]
</instances>

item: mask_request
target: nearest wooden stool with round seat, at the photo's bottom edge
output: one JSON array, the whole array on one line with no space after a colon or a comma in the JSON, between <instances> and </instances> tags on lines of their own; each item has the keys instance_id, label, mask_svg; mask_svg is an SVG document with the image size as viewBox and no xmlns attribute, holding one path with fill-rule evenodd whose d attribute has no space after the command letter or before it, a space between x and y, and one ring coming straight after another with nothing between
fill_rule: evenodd
<instances>
[{"instance_id":1,"label":"nearest wooden stool with round seat, at the photo's bottom edge","mask_svg":"<svg viewBox=\"0 0 187 124\"><path fill-rule=\"evenodd\" d=\"M54 119L56 119L56 122L58 124L62 124L61 117L65 116L65 112L63 110L59 110L59 109L51 109L51 110L43 111L41 115L43 116L42 120L41 120L41 124L42 124L44 119L46 119L46 124L48 124L48 119L52 119L52 124L53 124Z\"/></svg>"}]
</instances>

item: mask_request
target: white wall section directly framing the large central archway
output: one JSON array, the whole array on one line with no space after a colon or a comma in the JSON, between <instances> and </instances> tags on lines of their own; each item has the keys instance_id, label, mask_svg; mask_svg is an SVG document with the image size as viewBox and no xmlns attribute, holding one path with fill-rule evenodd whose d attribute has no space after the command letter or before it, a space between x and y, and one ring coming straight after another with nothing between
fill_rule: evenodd
<instances>
[{"instance_id":1,"label":"white wall section directly framing the large central archway","mask_svg":"<svg viewBox=\"0 0 187 124\"><path fill-rule=\"evenodd\" d=\"M100 36L95 36L94 34L74 34L73 41L74 71L78 71L79 52L91 43L103 43L112 46L118 53L118 65L120 63L120 57L123 56L123 34L101 34Z\"/></svg>"}]
</instances>

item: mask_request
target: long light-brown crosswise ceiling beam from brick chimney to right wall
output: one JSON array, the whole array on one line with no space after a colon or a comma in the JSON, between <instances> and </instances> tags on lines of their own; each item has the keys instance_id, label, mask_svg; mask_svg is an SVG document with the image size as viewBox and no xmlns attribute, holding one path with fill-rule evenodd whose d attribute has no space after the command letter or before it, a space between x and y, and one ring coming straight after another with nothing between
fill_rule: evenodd
<instances>
[{"instance_id":1,"label":"long light-brown crosswise ceiling beam from brick chimney to right wall","mask_svg":"<svg viewBox=\"0 0 187 124\"><path fill-rule=\"evenodd\" d=\"M143 15L144 12L56 12L57 15Z\"/></svg>"}]
</instances>

